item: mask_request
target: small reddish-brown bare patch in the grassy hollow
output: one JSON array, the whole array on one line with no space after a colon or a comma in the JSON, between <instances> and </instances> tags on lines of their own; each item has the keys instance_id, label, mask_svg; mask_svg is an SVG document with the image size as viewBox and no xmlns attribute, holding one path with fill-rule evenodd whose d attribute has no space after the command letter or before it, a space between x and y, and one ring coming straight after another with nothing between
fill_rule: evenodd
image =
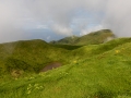
<instances>
[{"instance_id":1,"label":"small reddish-brown bare patch in the grassy hollow","mask_svg":"<svg viewBox=\"0 0 131 98\"><path fill-rule=\"evenodd\" d=\"M62 63L60 63L60 62L51 62L51 63L47 64L40 72L46 72L48 70L57 69L61 65L62 65Z\"/></svg>"}]
</instances>

